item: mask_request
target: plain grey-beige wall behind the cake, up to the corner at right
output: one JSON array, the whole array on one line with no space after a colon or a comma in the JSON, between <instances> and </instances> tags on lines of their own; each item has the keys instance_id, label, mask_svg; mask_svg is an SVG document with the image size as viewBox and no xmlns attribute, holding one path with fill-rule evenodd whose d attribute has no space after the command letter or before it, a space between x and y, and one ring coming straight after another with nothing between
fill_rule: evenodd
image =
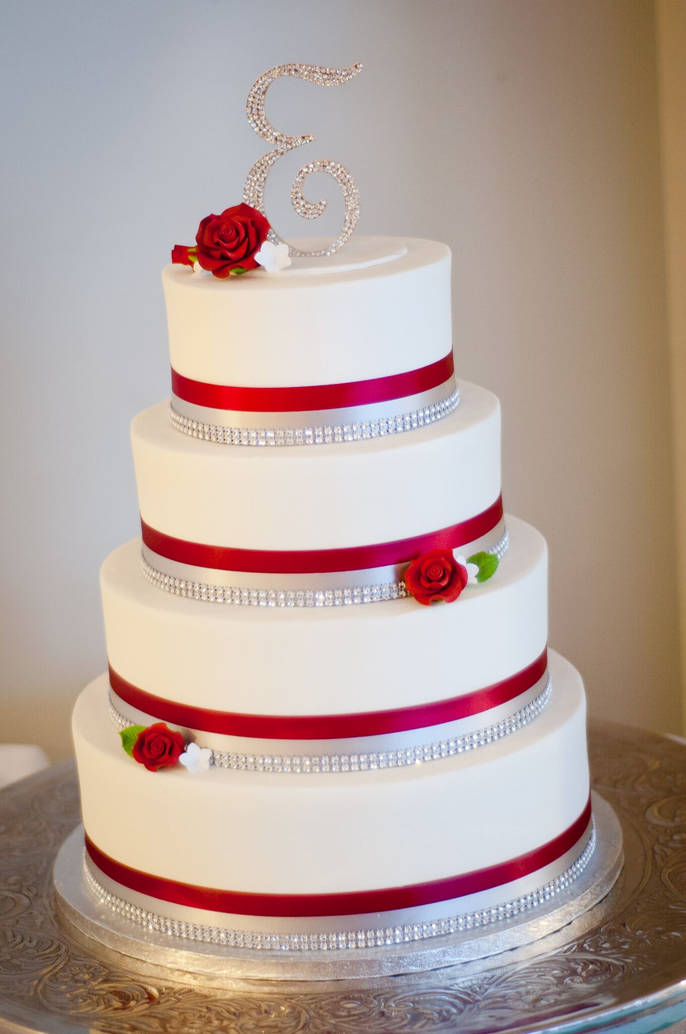
<instances>
[{"instance_id":1,"label":"plain grey-beige wall behind the cake, up to the corner at right","mask_svg":"<svg viewBox=\"0 0 686 1034\"><path fill-rule=\"evenodd\" d=\"M245 95L292 59L366 63L340 90L270 96L277 125L317 134L311 157L354 172L361 231L454 250L459 370L502 399L506 505L550 543L552 643L592 712L679 730L653 4L5 0L2 17L2 738L69 752L71 701L104 666L97 568L136 530L127 425L168 391L159 269L240 196L263 150ZM301 156L270 183L286 234Z\"/></svg>"}]
</instances>

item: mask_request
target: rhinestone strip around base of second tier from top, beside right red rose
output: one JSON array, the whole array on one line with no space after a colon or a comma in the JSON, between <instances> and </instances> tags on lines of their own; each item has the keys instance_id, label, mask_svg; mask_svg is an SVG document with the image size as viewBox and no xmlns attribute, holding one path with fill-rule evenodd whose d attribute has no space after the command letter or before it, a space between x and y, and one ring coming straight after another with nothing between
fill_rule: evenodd
<instances>
[{"instance_id":1,"label":"rhinestone strip around base of second tier from top, beside right red rose","mask_svg":"<svg viewBox=\"0 0 686 1034\"><path fill-rule=\"evenodd\" d=\"M508 545L509 537L505 528L495 546L491 546L485 552L492 553L501 560ZM158 571L143 554L141 567L149 582L165 592L172 592L173 596L245 607L345 607L363 603L382 603L385 600L402 600L409 596L404 581L383 582L379 585L354 585L350 588L239 588L175 578L174 575Z\"/></svg>"}]
</instances>

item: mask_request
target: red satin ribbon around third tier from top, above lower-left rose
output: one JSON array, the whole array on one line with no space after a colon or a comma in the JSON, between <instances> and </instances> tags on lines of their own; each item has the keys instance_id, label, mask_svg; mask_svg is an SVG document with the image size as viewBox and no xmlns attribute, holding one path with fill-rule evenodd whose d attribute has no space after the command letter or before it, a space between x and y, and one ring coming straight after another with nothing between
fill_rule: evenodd
<instances>
[{"instance_id":1,"label":"red satin ribbon around third tier from top, above lower-left rose","mask_svg":"<svg viewBox=\"0 0 686 1034\"><path fill-rule=\"evenodd\" d=\"M248 736L253 739L346 739L426 729L432 725L479 714L526 693L543 677L547 668L548 650L543 650L533 664L516 675L482 690L465 693L461 697L396 710L348 714L244 714L193 707L139 690L122 678L112 665L110 685L120 700L131 707L154 716L159 722L172 722L185 729L217 732L224 736Z\"/></svg>"}]
</instances>

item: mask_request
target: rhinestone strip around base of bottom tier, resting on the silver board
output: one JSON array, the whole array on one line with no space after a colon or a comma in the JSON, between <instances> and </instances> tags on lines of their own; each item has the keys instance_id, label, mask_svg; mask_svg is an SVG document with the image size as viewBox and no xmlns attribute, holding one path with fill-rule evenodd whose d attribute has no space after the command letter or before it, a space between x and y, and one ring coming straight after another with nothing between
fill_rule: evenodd
<instances>
[{"instance_id":1,"label":"rhinestone strip around base of bottom tier, resting on the silver board","mask_svg":"<svg viewBox=\"0 0 686 1034\"><path fill-rule=\"evenodd\" d=\"M537 887L528 894L513 898L487 909L477 909L444 919L414 922L406 925L377 927L376 930L350 930L322 932L319 934L259 934L245 930L225 930L220 926L206 926L200 923L169 919L156 912L131 905L117 894L113 894L98 883L84 856L86 882L100 904L131 922L158 934L167 934L186 941L200 941L206 944L221 944L231 948L252 948L272 951L332 951L347 948L374 948L408 941L426 941L444 934L457 934L468 930L491 926L514 915L531 912L551 901L556 894L566 890L584 872L595 850L595 823L591 835L579 857L560 876Z\"/></svg>"}]
</instances>

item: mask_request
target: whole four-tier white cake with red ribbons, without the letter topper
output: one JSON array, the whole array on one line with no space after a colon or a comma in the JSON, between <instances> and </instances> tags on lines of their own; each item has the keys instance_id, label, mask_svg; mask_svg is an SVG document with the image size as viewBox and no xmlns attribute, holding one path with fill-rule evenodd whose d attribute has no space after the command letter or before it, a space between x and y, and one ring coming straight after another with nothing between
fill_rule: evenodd
<instances>
[{"instance_id":1,"label":"whole four-tier white cake with red ribbons, without the letter topper","mask_svg":"<svg viewBox=\"0 0 686 1034\"><path fill-rule=\"evenodd\" d=\"M585 696L498 400L456 390L448 249L163 283L172 412L133 421L142 539L73 717L93 891L286 950L534 908L593 851Z\"/></svg>"}]
</instances>

